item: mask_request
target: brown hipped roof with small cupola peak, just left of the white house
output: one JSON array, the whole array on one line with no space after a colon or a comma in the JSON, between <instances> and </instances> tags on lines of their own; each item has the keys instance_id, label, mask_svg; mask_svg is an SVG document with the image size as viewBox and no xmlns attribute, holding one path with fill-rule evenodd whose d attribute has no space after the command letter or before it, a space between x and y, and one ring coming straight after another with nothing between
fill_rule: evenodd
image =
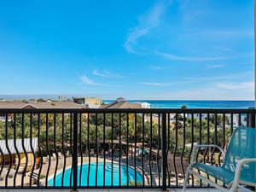
<instances>
[{"instance_id":1,"label":"brown hipped roof with small cupola peak, just left of the white house","mask_svg":"<svg viewBox=\"0 0 256 192\"><path fill-rule=\"evenodd\" d=\"M119 97L115 102L111 102L102 108L143 108L140 103L126 102L125 98Z\"/></svg>"}]
</instances>

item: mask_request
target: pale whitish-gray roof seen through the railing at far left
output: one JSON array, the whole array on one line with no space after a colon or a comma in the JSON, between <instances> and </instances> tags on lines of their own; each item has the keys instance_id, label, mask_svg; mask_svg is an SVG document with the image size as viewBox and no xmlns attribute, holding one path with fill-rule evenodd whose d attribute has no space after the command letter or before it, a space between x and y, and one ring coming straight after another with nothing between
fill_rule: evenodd
<instances>
[{"instance_id":1,"label":"pale whitish-gray roof seen through the railing at far left","mask_svg":"<svg viewBox=\"0 0 256 192\"><path fill-rule=\"evenodd\" d=\"M15 150L15 146L18 149L19 153L24 153L22 143L24 143L24 148L26 152L32 152L32 149L34 152L37 151L38 148L38 137L32 138L32 146L31 146L31 140L30 138L24 138L22 139L9 139L8 140L8 147L11 154L17 154L17 151ZM3 154L9 154L7 148L6 148L6 140L0 140L0 148L3 152Z\"/></svg>"}]
</instances>

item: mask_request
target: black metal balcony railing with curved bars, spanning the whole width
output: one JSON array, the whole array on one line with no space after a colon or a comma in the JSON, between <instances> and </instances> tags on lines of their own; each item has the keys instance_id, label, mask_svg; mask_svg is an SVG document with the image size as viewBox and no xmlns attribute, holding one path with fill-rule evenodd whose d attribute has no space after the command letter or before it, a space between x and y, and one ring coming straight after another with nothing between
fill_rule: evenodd
<instances>
[{"instance_id":1,"label":"black metal balcony railing with curved bars, spanning the whole width","mask_svg":"<svg viewBox=\"0 0 256 192\"><path fill-rule=\"evenodd\" d=\"M254 109L0 109L0 189L180 188ZM216 148L198 161L220 165ZM207 187L191 178L191 187Z\"/></svg>"}]
</instances>

